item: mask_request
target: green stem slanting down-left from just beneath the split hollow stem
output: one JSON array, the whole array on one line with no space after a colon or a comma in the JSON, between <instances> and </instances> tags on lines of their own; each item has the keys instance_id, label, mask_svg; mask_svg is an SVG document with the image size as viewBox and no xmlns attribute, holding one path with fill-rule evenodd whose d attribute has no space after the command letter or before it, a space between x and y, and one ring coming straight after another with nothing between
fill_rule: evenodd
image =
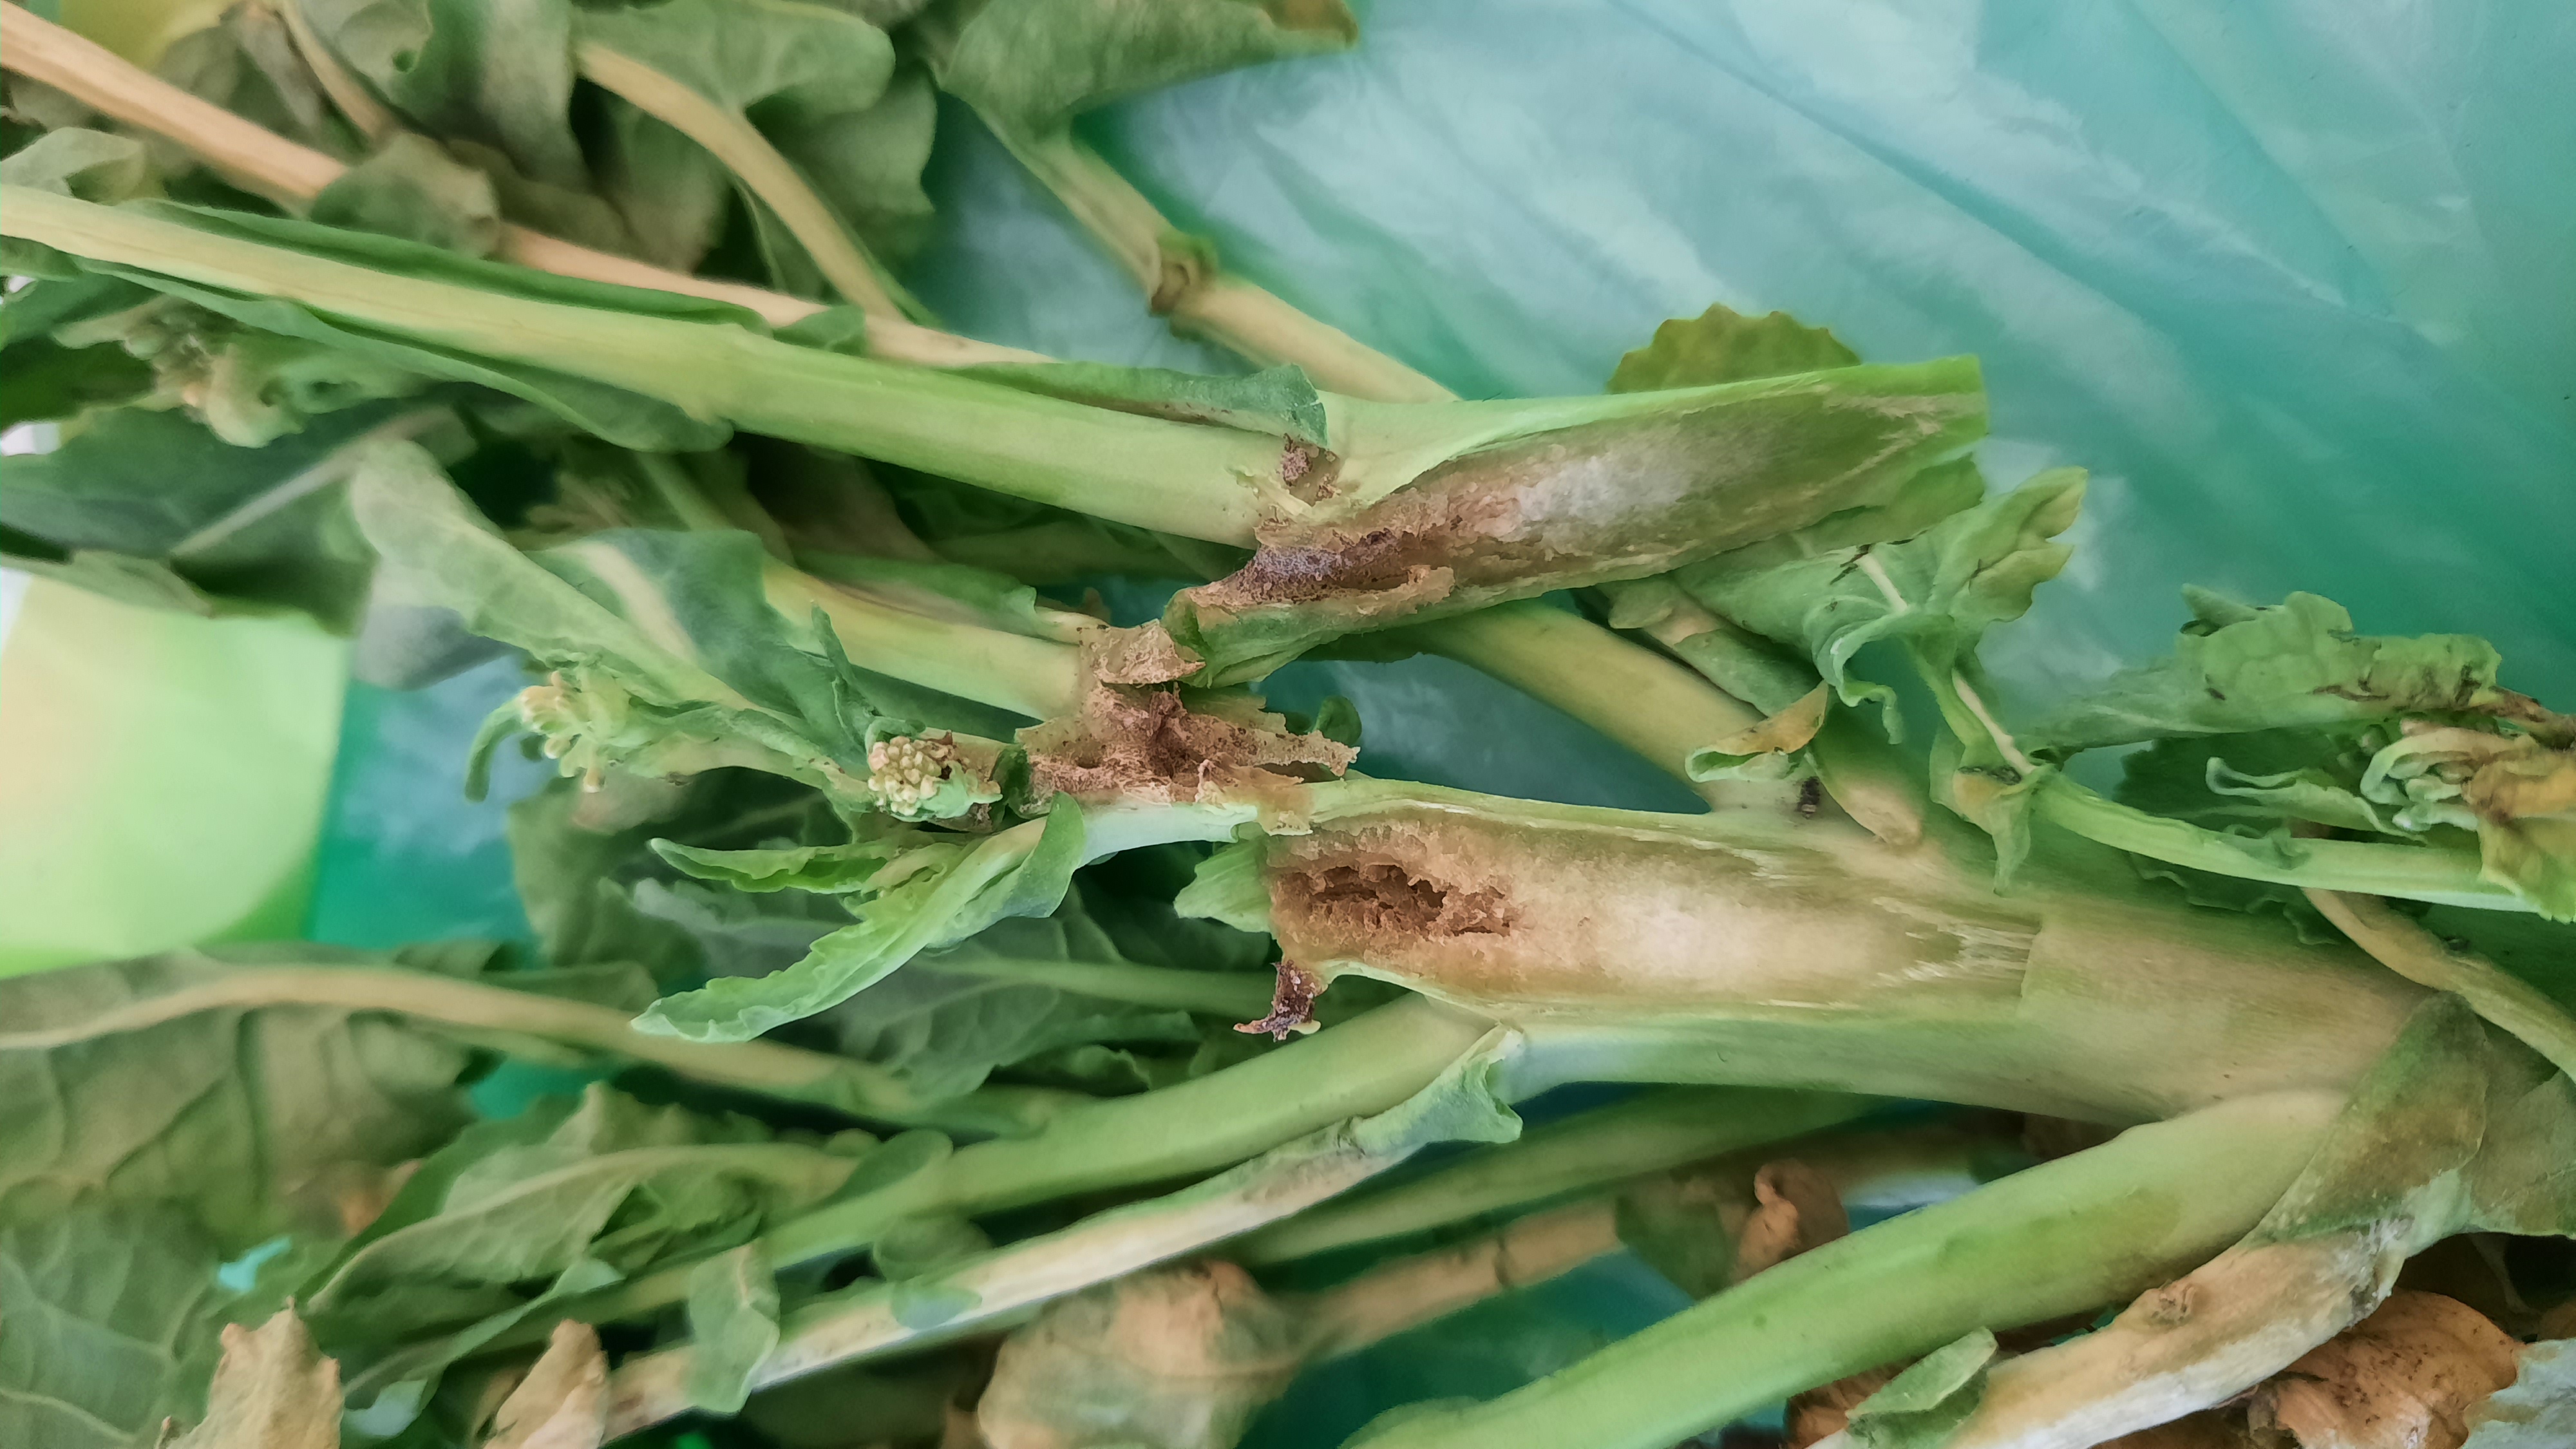
<instances>
[{"instance_id":1,"label":"green stem slanting down-left from just beneath the split hollow stem","mask_svg":"<svg viewBox=\"0 0 2576 1449\"><path fill-rule=\"evenodd\" d=\"M1396 1106L1486 1031L1486 1021L1430 1000L1383 1006L1198 1080L1066 1106L1036 1137L958 1147L884 1189L783 1222L765 1245L775 1263L801 1263L868 1248L894 1222L925 1212L974 1217L1226 1168L1345 1116ZM662 1269L567 1312L590 1323L634 1318L688 1297L688 1274L690 1263Z\"/></svg>"}]
</instances>

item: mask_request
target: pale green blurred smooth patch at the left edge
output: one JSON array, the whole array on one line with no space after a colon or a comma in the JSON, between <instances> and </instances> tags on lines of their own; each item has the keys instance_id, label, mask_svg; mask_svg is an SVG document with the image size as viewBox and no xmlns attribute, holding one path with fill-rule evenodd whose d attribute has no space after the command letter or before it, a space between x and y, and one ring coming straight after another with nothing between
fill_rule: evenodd
<instances>
[{"instance_id":1,"label":"pale green blurred smooth patch at the left edge","mask_svg":"<svg viewBox=\"0 0 2576 1449\"><path fill-rule=\"evenodd\" d=\"M46 580L10 596L0 975L296 936L348 645Z\"/></svg>"}]
</instances>

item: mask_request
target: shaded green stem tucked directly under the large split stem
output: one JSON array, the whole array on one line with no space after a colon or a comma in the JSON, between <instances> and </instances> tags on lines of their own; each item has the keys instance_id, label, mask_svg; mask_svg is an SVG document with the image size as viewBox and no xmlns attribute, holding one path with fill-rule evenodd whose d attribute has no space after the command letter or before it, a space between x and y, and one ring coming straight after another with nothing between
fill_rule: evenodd
<instances>
[{"instance_id":1,"label":"shaded green stem tucked directly under the large split stem","mask_svg":"<svg viewBox=\"0 0 2576 1449\"><path fill-rule=\"evenodd\" d=\"M1303 1212L1226 1250L1244 1266L1406 1238L1489 1212L1659 1173L1852 1122L1875 1098L1765 1088L1662 1088L1535 1127L1440 1171Z\"/></svg>"}]
</instances>

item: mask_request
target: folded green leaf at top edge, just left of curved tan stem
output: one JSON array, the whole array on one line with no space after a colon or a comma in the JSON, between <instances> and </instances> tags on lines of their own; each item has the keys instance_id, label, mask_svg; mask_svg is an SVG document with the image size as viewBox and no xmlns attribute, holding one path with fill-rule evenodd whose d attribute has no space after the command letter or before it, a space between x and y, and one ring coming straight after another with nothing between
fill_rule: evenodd
<instances>
[{"instance_id":1,"label":"folded green leaf at top edge, just left of curved tan stem","mask_svg":"<svg viewBox=\"0 0 2576 1449\"><path fill-rule=\"evenodd\" d=\"M294 3L332 54L422 131L497 147L533 180L587 183L569 124L569 3Z\"/></svg>"}]
</instances>

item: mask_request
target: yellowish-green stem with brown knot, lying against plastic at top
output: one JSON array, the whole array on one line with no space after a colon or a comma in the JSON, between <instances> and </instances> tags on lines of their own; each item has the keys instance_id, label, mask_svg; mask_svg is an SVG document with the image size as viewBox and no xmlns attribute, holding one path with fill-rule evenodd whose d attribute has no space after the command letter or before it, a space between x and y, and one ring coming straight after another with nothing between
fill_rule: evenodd
<instances>
[{"instance_id":1,"label":"yellowish-green stem with brown knot, lying against plastic at top","mask_svg":"<svg viewBox=\"0 0 2576 1449\"><path fill-rule=\"evenodd\" d=\"M1172 330L1218 343L1257 366L1298 364L1319 387L1386 402L1443 402L1450 389L1358 343L1260 286L1218 271L1203 242L1175 229L1100 152L1072 131L1041 137L984 116L1092 240L1136 281Z\"/></svg>"}]
</instances>

